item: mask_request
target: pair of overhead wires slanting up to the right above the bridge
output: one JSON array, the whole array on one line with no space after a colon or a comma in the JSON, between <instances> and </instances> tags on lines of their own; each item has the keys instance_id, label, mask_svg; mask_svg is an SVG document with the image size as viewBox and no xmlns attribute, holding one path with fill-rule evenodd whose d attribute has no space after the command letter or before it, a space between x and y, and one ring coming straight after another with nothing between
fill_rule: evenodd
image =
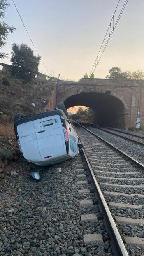
<instances>
[{"instance_id":1,"label":"pair of overhead wires slanting up to the right above the bridge","mask_svg":"<svg viewBox=\"0 0 144 256\"><path fill-rule=\"evenodd\" d=\"M120 0L119 0L119 1L120 1ZM118 4L119 4L119 1L118 1ZM96 67L98 66L98 63L100 62L100 59L102 58L102 55L103 55L103 53L104 53L104 51L105 51L105 49L106 49L106 47L107 47L107 44L109 43L109 40L110 40L110 38L111 38L111 36L112 36L112 34L113 34L113 32L114 32L114 29L116 28L116 25L117 25L119 19L121 18L121 15L122 15L122 13L123 13L123 11L124 11L125 6L127 5L127 3L128 3L128 0L125 0L125 3L123 4L123 7L122 7L122 9L121 9L121 12L119 13L118 18L116 19L116 22L114 23L114 14L115 14L116 9L117 9L117 7L118 7L118 4L117 4L116 9L115 9L115 12L114 12L114 14L113 14L113 17L112 17L112 19L111 19L111 21L113 20L113 29L112 29L111 31L109 30L109 28L111 29L111 22L110 22L110 23L109 23L109 27L108 27L108 29L107 29L107 32L108 32L108 30L109 30L109 37L108 37L108 39L107 39L107 42L105 43L105 46L104 46L104 48L103 48L103 50L102 50L102 53L100 54L100 57L98 58L98 55L99 55L100 50L101 50L101 48L102 48L103 42L105 41L105 37L106 37L106 35L107 35L107 32L106 32L105 37L104 37L104 40L102 41L100 50L99 50L99 52L98 52L98 55L97 55L97 57L96 57L96 59L95 59L95 62L94 62L94 64L93 64L93 67L92 67L92 69L91 69L91 72L92 72L92 71L95 72L95 69L96 69ZM94 67L94 66L95 66L95 67ZM91 72L90 72L90 74L91 74ZM90 75L89 75L89 76L90 76Z\"/></svg>"}]
</instances>

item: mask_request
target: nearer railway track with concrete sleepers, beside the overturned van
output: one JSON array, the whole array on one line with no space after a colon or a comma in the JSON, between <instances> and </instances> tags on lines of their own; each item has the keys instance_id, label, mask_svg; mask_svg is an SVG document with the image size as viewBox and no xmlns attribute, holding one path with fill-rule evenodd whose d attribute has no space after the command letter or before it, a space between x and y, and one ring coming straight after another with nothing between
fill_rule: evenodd
<instances>
[{"instance_id":1,"label":"nearer railway track with concrete sleepers, beside the overturned van","mask_svg":"<svg viewBox=\"0 0 144 256\"><path fill-rule=\"evenodd\" d=\"M143 256L144 165L78 123L76 130L113 254Z\"/></svg>"}]
</instances>

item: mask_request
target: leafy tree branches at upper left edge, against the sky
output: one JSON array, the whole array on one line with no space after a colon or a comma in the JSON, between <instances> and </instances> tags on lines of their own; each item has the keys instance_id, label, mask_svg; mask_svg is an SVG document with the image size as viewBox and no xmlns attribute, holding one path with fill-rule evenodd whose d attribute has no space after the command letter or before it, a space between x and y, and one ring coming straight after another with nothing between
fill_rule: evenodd
<instances>
[{"instance_id":1,"label":"leafy tree branches at upper left edge, against the sky","mask_svg":"<svg viewBox=\"0 0 144 256\"><path fill-rule=\"evenodd\" d=\"M6 44L5 40L9 32L13 32L16 28L9 26L7 23L2 21L5 18L5 9L9 6L6 0L0 0L0 49ZM0 52L0 58L7 57L7 54Z\"/></svg>"}]
</instances>

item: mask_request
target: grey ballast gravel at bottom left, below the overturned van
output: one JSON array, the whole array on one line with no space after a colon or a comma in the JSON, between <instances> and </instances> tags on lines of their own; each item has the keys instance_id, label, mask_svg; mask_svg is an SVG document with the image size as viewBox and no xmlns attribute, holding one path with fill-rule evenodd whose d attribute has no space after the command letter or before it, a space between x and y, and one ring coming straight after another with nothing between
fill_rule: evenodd
<instances>
[{"instance_id":1,"label":"grey ballast gravel at bottom left, below the overturned van","mask_svg":"<svg viewBox=\"0 0 144 256\"><path fill-rule=\"evenodd\" d=\"M0 256L112 255L107 241L101 246L83 242L84 234L105 236L105 228L101 219L81 222L81 214L99 214L99 209L93 193L91 197L78 194L84 186L77 185L76 163L74 159L43 170L40 182L23 173L14 180L19 184L15 189L13 181L5 183L5 193L12 200L1 205ZM91 184L85 187L93 192ZM94 206L80 208L79 200L87 198Z\"/></svg>"}]
</instances>

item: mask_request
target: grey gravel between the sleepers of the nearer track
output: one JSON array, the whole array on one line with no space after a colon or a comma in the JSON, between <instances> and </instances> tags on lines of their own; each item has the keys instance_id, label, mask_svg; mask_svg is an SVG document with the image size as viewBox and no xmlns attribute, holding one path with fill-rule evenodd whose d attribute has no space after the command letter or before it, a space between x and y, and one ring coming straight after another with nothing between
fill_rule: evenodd
<instances>
[{"instance_id":1,"label":"grey gravel between the sleepers of the nearer track","mask_svg":"<svg viewBox=\"0 0 144 256\"><path fill-rule=\"evenodd\" d=\"M93 129L93 132L95 132L95 128L89 128L87 127L89 130ZM132 168L134 168L135 170L125 170L122 169L121 170L121 166L125 166L125 168L129 167L129 164L127 165L127 161L125 161L125 159L123 157L121 157L118 153L115 154L115 157L118 158L118 160L116 160L116 162L113 161L113 159L111 159L111 154L109 155L110 151L111 153L113 153L114 151L112 151L111 149L109 149L109 147L103 143L100 142L100 140L98 140L96 137L94 137L93 135L90 135L88 133L88 131L84 130L83 128L81 129L79 126L76 126L76 130L78 135L81 138L81 142L84 144L84 150L86 151L86 154L88 156L88 159L91 163L91 166L94 170L94 172L96 173L97 176L97 180L98 183L100 185L100 188L102 189L102 191L111 191L111 192L119 192L119 193L128 193L128 194L144 194L144 189L143 188L139 188L139 187L133 187L134 186L134 182L130 180L112 180L112 179L107 179L107 178L100 178L102 175L103 176L107 176L105 175L106 172L111 172L110 174L108 174L108 176L113 177L114 176L114 172L132 172L132 171L139 171L140 177L142 176L142 172L139 168L134 168L134 165L130 166ZM101 132L101 131L100 131ZM96 133L97 134L97 133ZM88 136L89 135L89 136ZM98 134L99 135L99 134ZM100 135L100 137L104 135ZM104 137L105 138L105 137ZM120 138L119 139L119 145L122 147ZM115 142L115 140L114 140ZM117 142L117 141L116 141ZM112 142L111 142L112 143ZM114 143L113 143L114 144ZM125 151L126 149L126 145L123 142L123 151ZM128 148L128 150L133 150L132 145L131 147ZM105 157L102 156L101 158L101 151L103 154L105 154ZM108 151L108 153L107 153ZM110 160L110 162L108 162ZM121 165L122 162L125 162ZM116 167L117 165L117 169L110 169L110 168L106 168L103 169L103 166L107 166L107 163L110 163L109 165L113 165L113 167ZM117 163L117 164L116 164ZM118 163L120 165L118 165ZM102 168L99 168L100 166L102 166ZM103 171L103 174L99 171ZM116 175L116 174L115 174ZM122 177L122 175L121 175ZM104 184L100 184L100 181L103 182ZM107 186L105 185L105 182L107 183L116 183L116 184L125 184L126 185L132 185L132 187L115 187L115 186ZM143 182L138 180L136 181L135 185L138 184L143 184ZM133 196L133 197L124 197L124 196L118 196L118 197L111 197L109 195L105 196L105 199L107 202L123 202L123 203L128 203L128 204L133 204L133 205L142 205L141 209L130 209L130 208L123 208L123 207L112 207L110 206L110 211L113 217L115 216L120 216L120 217L126 217L126 218L133 218L133 219L143 219L144 218L144 199L141 197L138 197L137 195ZM139 224L139 225L128 225L128 224L117 224L118 226L118 230L123 238L123 240L125 240L125 236L130 236L130 237L140 237L143 238L144 237L144 225L143 224ZM138 247L138 246L127 246L126 245L126 249L128 251L128 254L130 256L144 256L144 249L143 247Z\"/></svg>"}]
</instances>

